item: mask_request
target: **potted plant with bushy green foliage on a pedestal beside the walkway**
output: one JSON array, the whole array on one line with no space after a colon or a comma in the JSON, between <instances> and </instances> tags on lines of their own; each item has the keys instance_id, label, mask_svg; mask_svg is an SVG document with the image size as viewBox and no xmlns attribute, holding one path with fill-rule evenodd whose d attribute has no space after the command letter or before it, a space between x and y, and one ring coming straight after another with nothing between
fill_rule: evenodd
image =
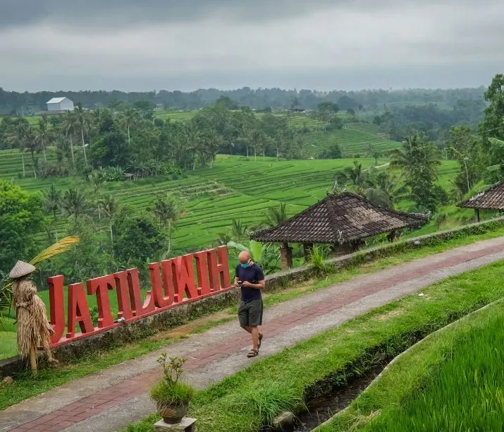
<instances>
[{"instance_id":1,"label":"potted plant with bushy green foliage on a pedestal beside the walkway","mask_svg":"<svg viewBox=\"0 0 504 432\"><path fill-rule=\"evenodd\" d=\"M185 359L162 354L158 363L163 368L163 378L150 391L156 402L157 412L167 424L177 424L188 413L189 403L195 390L179 382Z\"/></svg>"}]
</instances>

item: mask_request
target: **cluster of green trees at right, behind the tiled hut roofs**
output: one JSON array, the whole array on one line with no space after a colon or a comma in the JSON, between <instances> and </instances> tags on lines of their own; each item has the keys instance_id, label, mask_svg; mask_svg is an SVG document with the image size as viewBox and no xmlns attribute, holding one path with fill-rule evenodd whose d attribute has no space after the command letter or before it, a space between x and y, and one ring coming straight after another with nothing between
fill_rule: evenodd
<instances>
[{"instance_id":1,"label":"cluster of green trees at right, behind the tiled hut roofs","mask_svg":"<svg viewBox=\"0 0 504 432\"><path fill-rule=\"evenodd\" d=\"M496 75L484 93L486 108L476 127L459 124L447 127L442 145L421 131L402 137L402 148L389 154L386 172L363 169L357 160L354 166L336 176L333 186L364 196L384 207L393 208L407 198L414 205L410 210L434 214L442 205L458 203L485 186L504 179L504 75ZM417 107L418 108L418 107ZM418 108L431 110L431 107ZM391 119L392 114L384 114ZM388 120L387 120L388 121ZM439 186L441 160L459 162L459 170L449 191Z\"/></svg>"}]
</instances>

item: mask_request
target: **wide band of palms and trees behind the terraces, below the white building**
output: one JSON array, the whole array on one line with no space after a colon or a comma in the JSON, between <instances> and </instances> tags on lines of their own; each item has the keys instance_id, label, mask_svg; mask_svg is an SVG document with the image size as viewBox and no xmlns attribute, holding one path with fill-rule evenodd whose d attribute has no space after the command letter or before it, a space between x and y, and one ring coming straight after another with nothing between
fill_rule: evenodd
<instances>
[{"instance_id":1,"label":"wide band of palms and trees behind the terraces, below the white building","mask_svg":"<svg viewBox=\"0 0 504 432\"><path fill-rule=\"evenodd\" d=\"M190 121L154 118L146 101L133 105L113 104L106 109L87 110L78 104L73 112L42 116L37 124L8 116L0 123L0 149L17 149L22 160L21 176L27 176L25 157L30 157L35 177L65 176L93 169L108 169L109 179L213 167L218 153L247 157L302 158L307 126L293 126L291 112L258 116L248 107L229 109L225 97L200 110ZM324 128L341 128L337 104L322 102L314 118ZM47 149L56 150L56 162Z\"/></svg>"}]
</instances>

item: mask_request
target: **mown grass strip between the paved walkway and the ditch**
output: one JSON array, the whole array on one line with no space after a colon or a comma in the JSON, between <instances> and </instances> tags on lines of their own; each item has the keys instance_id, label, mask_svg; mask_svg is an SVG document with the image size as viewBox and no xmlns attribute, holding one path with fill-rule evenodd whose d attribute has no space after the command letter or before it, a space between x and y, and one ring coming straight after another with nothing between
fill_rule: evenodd
<instances>
[{"instance_id":1,"label":"mown grass strip between the paved walkway and the ditch","mask_svg":"<svg viewBox=\"0 0 504 432\"><path fill-rule=\"evenodd\" d=\"M265 388L273 388L275 401L296 409L296 401L307 393L321 394L328 386L345 383L351 374L362 373L362 367L359 371L354 365L369 359L364 361L369 366L373 353L396 355L419 338L500 299L503 277L504 263L497 263L434 284L422 290L425 296L407 296L376 308L202 390L192 403L190 416L198 419L202 432L257 431L281 409L271 404L269 409L259 410L256 403L237 401L266 400L260 395ZM388 319L383 319L386 314ZM128 426L127 431L152 431L155 419L150 416Z\"/></svg>"}]
</instances>

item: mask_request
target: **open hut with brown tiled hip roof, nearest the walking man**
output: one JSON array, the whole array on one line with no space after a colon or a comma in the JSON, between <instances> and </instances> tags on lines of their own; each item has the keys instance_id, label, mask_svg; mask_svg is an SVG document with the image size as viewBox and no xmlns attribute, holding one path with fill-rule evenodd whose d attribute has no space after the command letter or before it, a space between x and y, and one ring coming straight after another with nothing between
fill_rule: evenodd
<instances>
[{"instance_id":1,"label":"open hut with brown tiled hip roof, nearest the walking man","mask_svg":"<svg viewBox=\"0 0 504 432\"><path fill-rule=\"evenodd\" d=\"M357 251L368 237L390 232L389 240L393 241L398 230L419 227L426 222L423 215L382 208L345 192L329 194L276 227L252 232L250 238L281 244L282 268L287 269L293 267L293 249L289 244L302 244L305 259L315 244L329 244L334 255L345 255Z\"/></svg>"}]
</instances>

